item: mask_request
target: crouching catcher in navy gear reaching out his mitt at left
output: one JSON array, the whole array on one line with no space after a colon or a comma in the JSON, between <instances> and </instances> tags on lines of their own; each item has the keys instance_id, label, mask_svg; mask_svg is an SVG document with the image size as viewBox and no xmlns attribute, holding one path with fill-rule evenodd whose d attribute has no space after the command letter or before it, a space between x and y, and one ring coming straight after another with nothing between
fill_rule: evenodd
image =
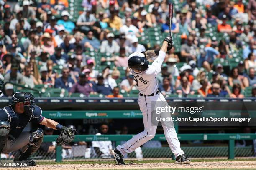
<instances>
[{"instance_id":1,"label":"crouching catcher in navy gear reaching out his mitt at left","mask_svg":"<svg viewBox=\"0 0 256 170\"><path fill-rule=\"evenodd\" d=\"M32 94L16 92L12 103L0 109L0 153L18 151L14 161L24 161L29 166L36 166L36 162L29 157L40 147L44 131L41 128L23 131L28 122L60 130L56 145L70 143L74 139L72 128L42 116L42 110L35 105L35 97Z\"/></svg>"}]
</instances>

